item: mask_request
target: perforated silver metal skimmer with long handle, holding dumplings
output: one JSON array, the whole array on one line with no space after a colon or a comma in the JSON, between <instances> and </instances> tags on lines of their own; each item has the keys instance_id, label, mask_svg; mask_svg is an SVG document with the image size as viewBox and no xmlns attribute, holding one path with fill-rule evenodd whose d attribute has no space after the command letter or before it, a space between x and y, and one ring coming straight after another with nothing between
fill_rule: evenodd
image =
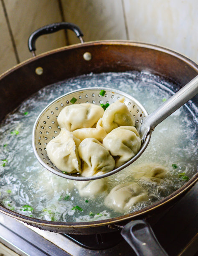
<instances>
[{"instance_id":1,"label":"perforated silver metal skimmer with long handle, holding dumplings","mask_svg":"<svg viewBox=\"0 0 198 256\"><path fill-rule=\"evenodd\" d=\"M101 96L101 90L105 91L105 95ZM175 112L178 108L184 105L188 100L198 93L198 76L186 84L181 90L176 92L172 97L165 101L152 114L148 115L147 110L134 97L115 89L95 87L75 90L53 100L38 116L33 127L33 151L37 160L50 172L66 179L73 180L93 180L101 179L121 171L129 164L132 164L145 151L149 144L151 132L165 118ZM81 177L80 174L63 174L49 160L46 152L47 143L60 133L57 117L63 108L71 105L71 99L76 98L75 104L78 103L94 103L96 105L109 104L119 100L120 97L125 97L125 104L135 118L135 127L140 133L142 145L140 151L128 162L118 168L102 175L93 177Z\"/></svg>"}]
</instances>

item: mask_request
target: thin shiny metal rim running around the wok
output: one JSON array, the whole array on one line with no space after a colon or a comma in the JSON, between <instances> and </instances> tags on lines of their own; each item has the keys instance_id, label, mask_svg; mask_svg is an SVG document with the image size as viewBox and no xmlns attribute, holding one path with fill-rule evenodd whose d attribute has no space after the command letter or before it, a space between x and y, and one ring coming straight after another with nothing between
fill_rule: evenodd
<instances>
[{"instance_id":1,"label":"thin shiny metal rim running around the wok","mask_svg":"<svg viewBox=\"0 0 198 256\"><path fill-rule=\"evenodd\" d=\"M15 65L14 67L8 69L6 72L4 72L3 74L0 75L0 79L2 79L3 77L9 75L10 73L14 72L15 70L19 69L20 67L25 66L26 64L33 62L37 59L42 58L43 56L47 56L50 54L54 54L58 51L65 51L65 50L70 50L70 49L75 49L75 48L81 48L81 47L85 47L85 46L97 46L97 45L126 45L126 46L135 46L135 47L142 47L142 48L147 48L147 49L153 49L156 51L161 51L164 52L166 54L169 54L171 56L174 56L182 61L184 61L186 64L188 64L191 68L193 68L196 72L198 72L198 64L191 60L190 58L188 58L188 56L185 56L183 54L181 54L178 51L169 49L167 47L164 46L160 46L160 45L156 45L156 44L149 44L149 43L145 43L145 42L139 42L139 41L129 41L129 40L102 40L102 41L90 41L90 42L86 42L84 44L74 44L71 46L63 46L61 48L58 49L53 49L51 51L47 51L45 53L42 54L38 54L35 57L31 57L30 59L27 59L17 65ZM190 187L193 186L193 184L195 184L198 181L198 173L196 173L188 182L186 182L182 187L180 187L179 189L177 189L175 192L171 193L170 195L168 195L167 197L163 198L162 200L160 200L159 202L156 202L152 205L150 205L149 207L145 207L142 210L133 212L133 213L129 213L127 215L121 215L119 217L116 218L110 218L110 219L106 219L106 220L97 220L97 221L90 221L90 222L76 222L76 223L66 223L66 222L53 222L53 221L48 221L48 220L41 220L41 219L36 219L36 218L32 218L29 216L25 216L22 215L20 213L14 212L12 210L9 210L5 207L3 207L2 205L0 205L0 212L16 218L17 220L23 221L25 223L31 224L31 225L43 225L43 227L56 227L56 228L90 228L90 227L99 227L99 226L106 226L109 224L113 224L113 223L119 223L122 222L124 220L130 220L132 218L135 218L137 216L141 216L147 212L151 212L152 210L155 210L159 207L161 207L162 205L165 205L166 203L172 201L173 199L175 199L176 197L180 196L181 194L183 194L185 191L187 191Z\"/></svg>"}]
</instances>

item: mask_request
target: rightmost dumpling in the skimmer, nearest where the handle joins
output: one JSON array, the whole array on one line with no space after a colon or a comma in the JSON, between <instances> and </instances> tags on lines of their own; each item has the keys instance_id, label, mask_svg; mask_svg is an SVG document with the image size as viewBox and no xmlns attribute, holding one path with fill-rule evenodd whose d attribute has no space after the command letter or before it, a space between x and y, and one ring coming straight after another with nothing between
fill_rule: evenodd
<instances>
[{"instance_id":1,"label":"rightmost dumpling in the skimmer, nearest where the handle joins","mask_svg":"<svg viewBox=\"0 0 198 256\"><path fill-rule=\"evenodd\" d=\"M119 167L137 154L141 139L135 127L120 126L107 134L103 146L115 156L115 167Z\"/></svg>"}]
</instances>

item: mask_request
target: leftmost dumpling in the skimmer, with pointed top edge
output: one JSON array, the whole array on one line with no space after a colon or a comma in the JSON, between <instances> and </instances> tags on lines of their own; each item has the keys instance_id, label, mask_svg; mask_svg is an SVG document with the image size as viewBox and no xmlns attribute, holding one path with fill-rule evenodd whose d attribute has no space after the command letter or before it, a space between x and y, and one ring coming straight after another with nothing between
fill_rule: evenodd
<instances>
[{"instance_id":1,"label":"leftmost dumpling in the skimmer, with pointed top edge","mask_svg":"<svg viewBox=\"0 0 198 256\"><path fill-rule=\"evenodd\" d=\"M81 173L81 161L77 149L79 142L79 139L63 128L46 146L49 159L62 172Z\"/></svg>"}]
</instances>

